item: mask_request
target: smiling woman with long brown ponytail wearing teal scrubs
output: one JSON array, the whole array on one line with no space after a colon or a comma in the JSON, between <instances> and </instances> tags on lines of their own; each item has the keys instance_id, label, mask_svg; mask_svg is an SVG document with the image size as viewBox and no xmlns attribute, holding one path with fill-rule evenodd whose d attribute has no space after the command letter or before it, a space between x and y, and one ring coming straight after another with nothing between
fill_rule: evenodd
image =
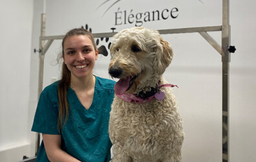
<instances>
[{"instance_id":1,"label":"smiling woman with long brown ponytail wearing teal scrubs","mask_svg":"<svg viewBox=\"0 0 256 162\"><path fill-rule=\"evenodd\" d=\"M32 126L43 135L37 161L109 161L115 82L92 74L98 50L87 30L67 32L62 48L61 80L41 93Z\"/></svg>"}]
</instances>

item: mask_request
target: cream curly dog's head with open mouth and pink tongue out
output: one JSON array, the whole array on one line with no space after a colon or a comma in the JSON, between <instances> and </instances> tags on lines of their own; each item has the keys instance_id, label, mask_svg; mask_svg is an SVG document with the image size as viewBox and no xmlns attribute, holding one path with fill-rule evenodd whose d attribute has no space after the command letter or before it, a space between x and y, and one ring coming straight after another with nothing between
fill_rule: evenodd
<instances>
[{"instance_id":1,"label":"cream curly dog's head with open mouth and pink tongue out","mask_svg":"<svg viewBox=\"0 0 256 162\"><path fill-rule=\"evenodd\" d=\"M134 27L114 35L109 74L120 78L117 94L154 87L173 59L173 50L156 30Z\"/></svg>"}]
</instances>

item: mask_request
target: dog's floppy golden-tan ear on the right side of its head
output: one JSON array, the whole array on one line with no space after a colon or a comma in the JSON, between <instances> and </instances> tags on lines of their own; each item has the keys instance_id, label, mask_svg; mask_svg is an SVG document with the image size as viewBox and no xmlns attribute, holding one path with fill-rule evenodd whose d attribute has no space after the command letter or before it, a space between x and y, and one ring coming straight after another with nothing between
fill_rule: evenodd
<instances>
[{"instance_id":1,"label":"dog's floppy golden-tan ear on the right side of its head","mask_svg":"<svg viewBox=\"0 0 256 162\"><path fill-rule=\"evenodd\" d=\"M167 41L164 41L162 37L160 37L161 50L158 50L160 63L158 64L158 74L164 74L165 69L170 65L171 60L173 59L173 49L169 46Z\"/></svg>"}]
</instances>

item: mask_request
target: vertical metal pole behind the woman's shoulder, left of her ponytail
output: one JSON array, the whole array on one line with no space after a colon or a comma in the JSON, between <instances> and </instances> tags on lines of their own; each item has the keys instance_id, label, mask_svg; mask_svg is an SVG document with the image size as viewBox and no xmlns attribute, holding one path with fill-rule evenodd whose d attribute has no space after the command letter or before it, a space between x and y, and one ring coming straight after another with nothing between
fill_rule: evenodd
<instances>
[{"instance_id":1,"label":"vertical metal pole behind the woman's shoulder, left of her ponytail","mask_svg":"<svg viewBox=\"0 0 256 162\"><path fill-rule=\"evenodd\" d=\"M45 36L45 14L41 14L41 37ZM38 79L38 98L43 90L43 66L45 61L45 53L43 52L43 47L45 46L45 41L39 39L39 79ZM36 133L36 156L40 146L40 134Z\"/></svg>"}]
</instances>

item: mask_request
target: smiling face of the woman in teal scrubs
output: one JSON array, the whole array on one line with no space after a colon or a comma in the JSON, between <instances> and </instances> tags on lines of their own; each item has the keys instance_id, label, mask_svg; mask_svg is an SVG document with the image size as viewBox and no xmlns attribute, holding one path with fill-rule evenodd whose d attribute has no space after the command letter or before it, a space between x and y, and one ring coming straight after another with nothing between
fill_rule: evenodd
<instances>
[{"instance_id":1,"label":"smiling face of the woman in teal scrubs","mask_svg":"<svg viewBox=\"0 0 256 162\"><path fill-rule=\"evenodd\" d=\"M67 37L63 44L63 59L71 72L71 77L85 77L92 74L98 59L98 50L94 49L88 35Z\"/></svg>"}]
</instances>

